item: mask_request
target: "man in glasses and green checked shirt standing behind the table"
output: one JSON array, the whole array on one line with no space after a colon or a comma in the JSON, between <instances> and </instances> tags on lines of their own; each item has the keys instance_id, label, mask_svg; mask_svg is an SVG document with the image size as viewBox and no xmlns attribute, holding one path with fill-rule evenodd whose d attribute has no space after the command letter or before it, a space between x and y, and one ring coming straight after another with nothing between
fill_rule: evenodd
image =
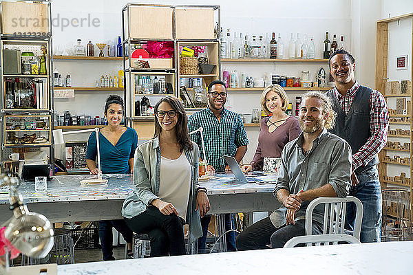
<instances>
[{"instance_id":1,"label":"man in glasses and green checked shirt standing behind the table","mask_svg":"<svg viewBox=\"0 0 413 275\"><path fill-rule=\"evenodd\" d=\"M224 172L229 170L222 155L231 155L240 163L246 153L248 137L240 115L224 108L226 102L226 87L221 80L214 80L208 85L208 107L189 116L189 131L204 129L205 153L207 170L210 172ZM202 151L200 133L191 135ZM202 152L200 156L202 157ZM231 214L225 214L225 230L231 230ZM198 251L204 252L207 239L208 225L211 215L201 219L203 236L198 241ZM235 232L226 234L226 250L235 251Z\"/></svg>"}]
</instances>

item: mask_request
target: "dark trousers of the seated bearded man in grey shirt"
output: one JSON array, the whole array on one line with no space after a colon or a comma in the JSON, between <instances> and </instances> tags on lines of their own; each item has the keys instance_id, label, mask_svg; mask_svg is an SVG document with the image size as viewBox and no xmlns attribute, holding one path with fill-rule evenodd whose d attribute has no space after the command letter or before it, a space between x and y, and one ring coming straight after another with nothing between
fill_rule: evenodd
<instances>
[{"instance_id":1,"label":"dark trousers of the seated bearded man in grey shirt","mask_svg":"<svg viewBox=\"0 0 413 275\"><path fill-rule=\"evenodd\" d=\"M321 234L322 225L313 220L313 234ZM237 236L238 250L260 250L268 248L283 248L287 241L295 236L306 234L305 221L295 221L295 225L283 225L275 228L270 217L266 217L246 228Z\"/></svg>"}]
</instances>

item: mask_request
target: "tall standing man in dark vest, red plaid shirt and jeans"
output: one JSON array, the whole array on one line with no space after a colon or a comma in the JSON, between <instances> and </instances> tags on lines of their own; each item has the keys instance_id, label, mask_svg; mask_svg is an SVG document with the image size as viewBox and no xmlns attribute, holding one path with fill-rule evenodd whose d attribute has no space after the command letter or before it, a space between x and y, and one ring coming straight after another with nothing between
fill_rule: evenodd
<instances>
[{"instance_id":1,"label":"tall standing man in dark vest, red plaid shirt and jeans","mask_svg":"<svg viewBox=\"0 0 413 275\"><path fill-rule=\"evenodd\" d=\"M360 241L381 240L381 187L378 153L385 146L389 114L379 91L359 85L354 78L353 56L346 50L332 53L328 61L335 88L327 92L337 113L335 129L330 130L352 148L352 186L350 195L363 203ZM352 229L355 217L352 204L346 213L346 228Z\"/></svg>"}]
</instances>

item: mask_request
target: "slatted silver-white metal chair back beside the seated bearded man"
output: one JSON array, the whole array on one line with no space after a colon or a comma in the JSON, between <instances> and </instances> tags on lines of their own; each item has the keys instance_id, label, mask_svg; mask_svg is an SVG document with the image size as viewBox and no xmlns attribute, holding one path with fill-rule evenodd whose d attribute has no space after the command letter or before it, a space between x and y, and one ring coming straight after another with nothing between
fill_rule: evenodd
<instances>
[{"instance_id":1,"label":"slatted silver-white metal chair back beside the seated bearded man","mask_svg":"<svg viewBox=\"0 0 413 275\"><path fill-rule=\"evenodd\" d=\"M324 203L324 223L322 234L344 234L346 224L346 208L348 202L356 204L356 217L354 219L353 236L360 239L361 220L363 219L363 204L357 197L319 197L308 204L306 210L306 235L313 234L313 210L316 206Z\"/></svg>"}]
</instances>

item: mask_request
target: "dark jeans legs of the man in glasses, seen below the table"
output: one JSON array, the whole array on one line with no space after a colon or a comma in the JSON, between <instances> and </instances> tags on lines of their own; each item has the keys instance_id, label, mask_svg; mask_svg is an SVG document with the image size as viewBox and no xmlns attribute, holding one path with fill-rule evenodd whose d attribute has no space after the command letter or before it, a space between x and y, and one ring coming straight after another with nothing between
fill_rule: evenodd
<instances>
[{"instance_id":1,"label":"dark jeans legs of the man in glasses, seen below the table","mask_svg":"<svg viewBox=\"0 0 413 275\"><path fill-rule=\"evenodd\" d=\"M224 214L225 231L235 228L235 221L233 214ZM205 253L205 243L207 242L208 226L211 221L211 215L205 215L201 218L202 236L198 239L198 253ZM232 223L232 227L231 227ZM237 251L235 246L235 232L231 231L225 234L226 251Z\"/></svg>"}]
</instances>

